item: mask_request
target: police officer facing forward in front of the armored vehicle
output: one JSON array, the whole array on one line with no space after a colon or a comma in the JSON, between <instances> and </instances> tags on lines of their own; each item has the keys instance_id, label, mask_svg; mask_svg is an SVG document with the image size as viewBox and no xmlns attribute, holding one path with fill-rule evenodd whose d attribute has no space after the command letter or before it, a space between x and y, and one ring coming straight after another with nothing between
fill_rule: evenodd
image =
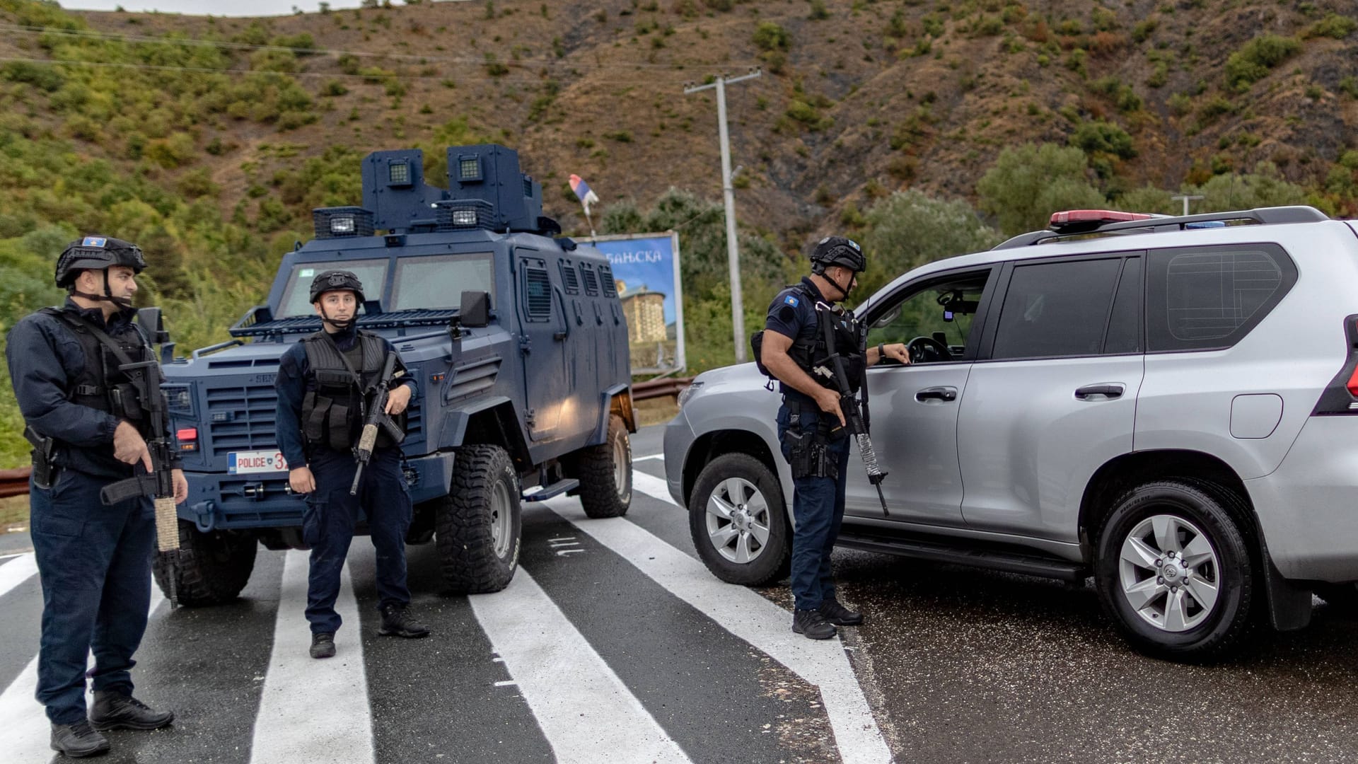
<instances>
[{"instance_id":1,"label":"police officer facing forward in front of the armored vehicle","mask_svg":"<svg viewBox=\"0 0 1358 764\"><path fill-rule=\"evenodd\" d=\"M406 608L406 530L411 506L401 472L401 449L386 432L378 436L372 461L363 472L356 496L349 495L368 392L378 382L391 343L359 332L354 319L363 303L363 284L348 271L326 271L311 281L311 305L322 330L288 348L278 363L278 450L288 459L288 481L306 493L303 538L311 546L307 586L307 621L311 623L311 657L335 654L340 629L335 597L340 571L353 527L368 518L372 545L378 549L378 609L383 636L420 638L429 629ZM386 413L397 417L410 402L416 381L397 359Z\"/></svg>"}]
</instances>

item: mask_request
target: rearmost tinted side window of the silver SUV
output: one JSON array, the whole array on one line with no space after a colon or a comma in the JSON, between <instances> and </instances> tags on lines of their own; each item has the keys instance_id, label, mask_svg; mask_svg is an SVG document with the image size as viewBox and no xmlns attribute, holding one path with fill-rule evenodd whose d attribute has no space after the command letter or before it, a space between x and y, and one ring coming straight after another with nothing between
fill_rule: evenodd
<instances>
[{"instance_id":1,"label":"rearmost tinted side window of the silver SUV","mask_svg":"<svg viewBox=\"0 0 1358 764\"><path fill-rule=\"evenodd\" d=\"M1296 283L1297 266L1278 245L1153 250L1146 269L1149 349L1230 347Z\"/></svg>"}]
</instances>

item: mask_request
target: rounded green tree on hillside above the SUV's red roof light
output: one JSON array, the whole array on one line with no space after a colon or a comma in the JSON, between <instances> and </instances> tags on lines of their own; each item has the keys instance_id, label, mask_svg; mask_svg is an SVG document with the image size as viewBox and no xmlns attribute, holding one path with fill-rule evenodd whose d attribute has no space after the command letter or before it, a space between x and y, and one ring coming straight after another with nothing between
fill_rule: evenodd
<instances>
[{"instance_id":1,"label":"rounded green tree on hillside above the SUV's red roof light","mask_svg":"<svg viewBox=\"0 0 1358 764\"><path fill-rule=\"evenodd\" d=\"M1052 212L1103 207L1108 200L1089 184L1085 162L1084 151L1054 143L1006 148L976 184L980 208L1013 237L1046 228Z\"/></svg>"}]
</instances>

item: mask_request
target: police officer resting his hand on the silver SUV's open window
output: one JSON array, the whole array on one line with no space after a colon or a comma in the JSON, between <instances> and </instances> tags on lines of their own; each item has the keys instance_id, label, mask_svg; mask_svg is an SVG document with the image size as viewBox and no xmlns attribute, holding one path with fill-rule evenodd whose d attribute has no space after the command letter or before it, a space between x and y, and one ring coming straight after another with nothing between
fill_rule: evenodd
<instances>
[{"instance_id":1,"label":"police officer resting his hand on the silver SUV's open window","mask_svg":"<svg viewBox=\"0 0 1358 764\"><path fill-rule=\"evenodd\" d=\"M794 487L792 631L811 639L830 639L835 625L862 623L861 613L835 598L830 575L830 551L845 515L849 438L838 383L816 368L824 370L824 359L839 352L851 387L845 393L857 393L868 366L884 358L910 363L904 344L865 348L865 334L853 314L834 307L849 296L865 266L857 242L843 237L820 239L811 253L811 276L778 292L769 306L760 349L760 362L778 379L784 396L778 439L792 466ZM822 321L835 321L835 348L827 347Z\"/></svg>"}]
</instances>

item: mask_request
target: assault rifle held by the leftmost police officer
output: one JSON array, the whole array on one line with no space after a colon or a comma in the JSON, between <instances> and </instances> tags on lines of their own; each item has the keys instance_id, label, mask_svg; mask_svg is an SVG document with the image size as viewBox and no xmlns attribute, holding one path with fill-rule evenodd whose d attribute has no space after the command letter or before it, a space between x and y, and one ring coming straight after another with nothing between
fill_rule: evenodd
<instances>
[{"instance_id":1,"label":"assault rifle held by the leftmost police officer","mask_svg":"<svg viewBox=\"0 0 1358 764\"><path fill-rule=\"evenodd\" d=\"M145 307L137 311L137 324L152 344L164 344L170 333L164 330L160 309ZM118 353L121 355L121 353ZM151 355L143 351L143 355ZM99 500L106 506L126 502L136 496L149 496L156 507L156 545L166 564L166 589L170 593L170 608L179 606L179 515L174 503L174 469L170 466L170 432L166 427L166 394L160 389L160 364L153 358L126 362L118 359L118 371L128 378L137 396L137 405L151 424L151 438L147 450L151 451L152 470L120 480L99 489ZM122 390L113 387L114 397ZM136 469L136 465L133 466Z\"/></svg>"}]
</instances>

